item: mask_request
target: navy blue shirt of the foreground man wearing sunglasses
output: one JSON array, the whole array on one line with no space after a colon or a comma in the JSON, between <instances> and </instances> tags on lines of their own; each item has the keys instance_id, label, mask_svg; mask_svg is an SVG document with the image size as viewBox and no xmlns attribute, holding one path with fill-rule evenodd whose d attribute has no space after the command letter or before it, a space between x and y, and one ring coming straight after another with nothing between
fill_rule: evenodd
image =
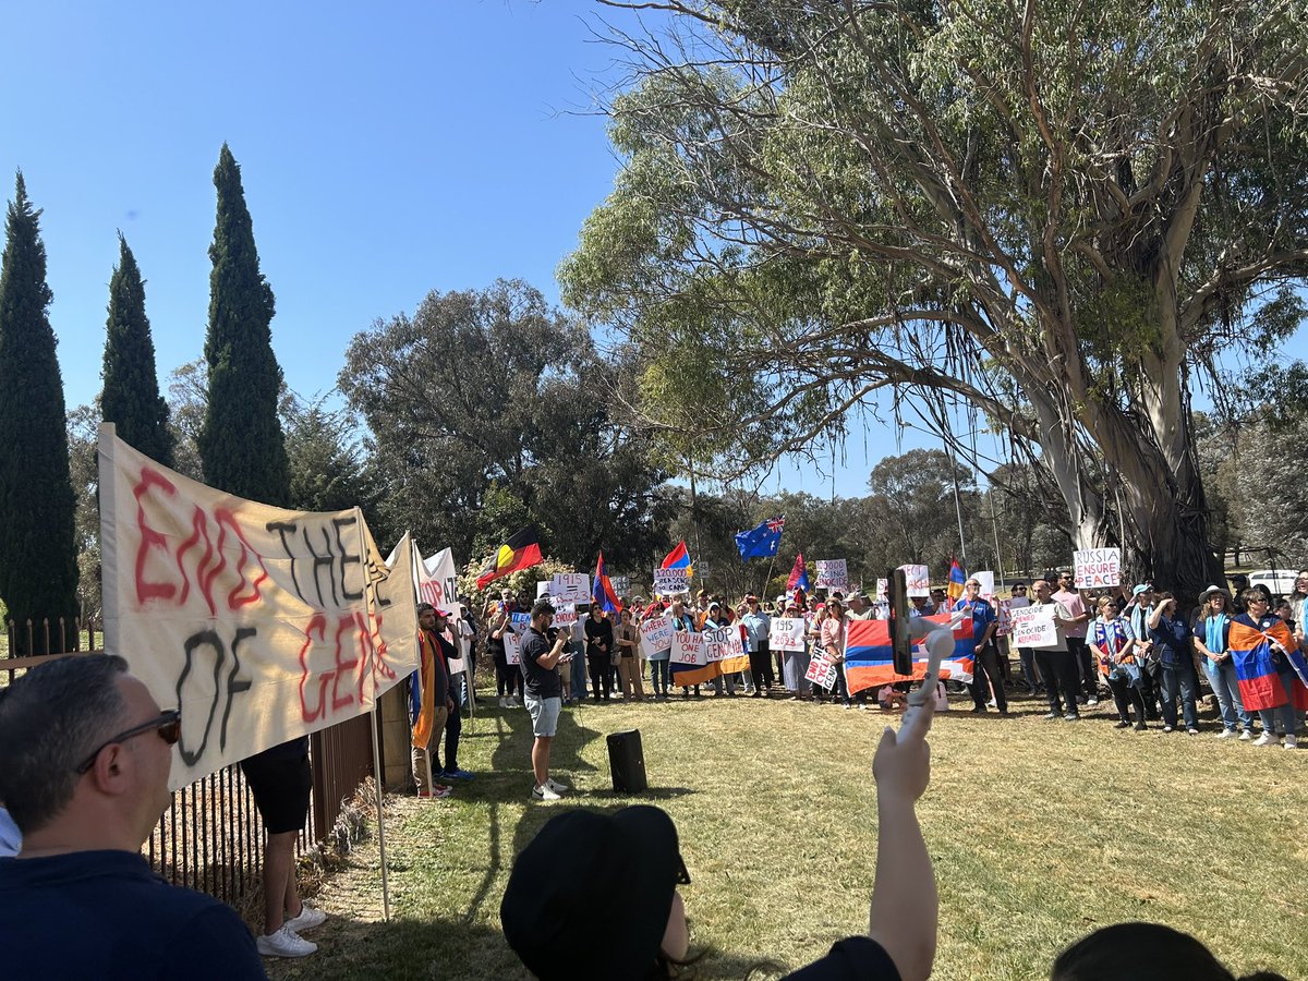
<instances>
[{"instance_id":1,"label":"navy blue shirt of the foreground man wearing sunglasses","mask_svg":"<svg viewBox=\"0 0 1308 981\"><path fill-rule=\"evenodd\" d=\"M0 973L13 981L267 978L235 910L132 852L0 858Z\"/></svg>"}]
</instances>

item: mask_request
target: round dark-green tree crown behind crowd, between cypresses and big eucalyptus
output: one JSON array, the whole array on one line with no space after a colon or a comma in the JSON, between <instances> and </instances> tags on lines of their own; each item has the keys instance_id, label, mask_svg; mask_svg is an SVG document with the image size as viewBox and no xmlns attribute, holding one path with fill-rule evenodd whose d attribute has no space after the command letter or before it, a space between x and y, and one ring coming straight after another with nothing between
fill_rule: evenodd
<instances>
[{"instance_id":1,"label":"round dark-green tree crown behind crowd, between cypresses and big eucalyptus","mask_svg":"<svg viewBox=\"0 0 1308 981\"><path fill-rule=\"evenodd\" d=\"M522 281L430 293L345 354L340 388L385 475L381 526L483 561L534 525L573 569L613 573L666 540L664 473L611 404L627 385L587 334Z\"/></svg>"}]
</instances>

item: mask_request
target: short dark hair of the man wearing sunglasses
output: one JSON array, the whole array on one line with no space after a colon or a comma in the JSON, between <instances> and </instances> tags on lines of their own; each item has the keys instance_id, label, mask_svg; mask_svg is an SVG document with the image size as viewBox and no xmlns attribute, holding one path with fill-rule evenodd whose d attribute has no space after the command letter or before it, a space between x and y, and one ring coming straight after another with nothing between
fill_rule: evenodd
<instances>
[{"instance_id":1,"label":"short dark hair of the man wearing sunglasses","mask_svg":"<svg viewBox=\"0 0 1308 981\"><path fill-rule=\"evenodd\" d=\"M120 725L124 674L116 654L73 655L0 689L0 800L24 835L59 816L81 780L77 765Z\"/></svg>"}]
</instances>

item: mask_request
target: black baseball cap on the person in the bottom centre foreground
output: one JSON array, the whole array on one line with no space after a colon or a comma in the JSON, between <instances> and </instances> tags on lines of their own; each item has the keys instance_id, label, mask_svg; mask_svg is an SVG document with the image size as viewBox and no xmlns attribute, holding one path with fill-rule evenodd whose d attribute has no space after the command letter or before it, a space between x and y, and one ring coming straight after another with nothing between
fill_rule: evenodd
<instances>
[{"instance_id":1,"label":"black baseball cap on the person in the bottom centre foreground","mask_svg":"<svg viewBox=\"0 0 1308 981\"><path fill-rule=\"evenodd\" d=\"M661 808L568 811L551 818L514 861L500 922L542 981L645 977L672 893L688 882L676 825Z\"/></svg>"}]
</instances>

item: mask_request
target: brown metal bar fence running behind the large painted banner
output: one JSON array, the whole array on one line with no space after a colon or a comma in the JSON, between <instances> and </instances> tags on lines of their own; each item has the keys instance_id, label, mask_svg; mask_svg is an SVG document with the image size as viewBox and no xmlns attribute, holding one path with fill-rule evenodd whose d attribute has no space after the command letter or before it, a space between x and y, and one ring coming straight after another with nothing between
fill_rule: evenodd
<instances>
[{"instance_id":1,"label":"brown metal bar fence running behind the large painted banner","mask_svg":"<svg viewBox=\"0 0 1308 981\"><path fill-rule=\"evenodd\" d=\"M13 650L16 628L12 621L8 627L9 650ZM95 647L97 628L94 621L77 623L65 632L60 623L54 629L44 627L29 636L60 637L63 641L76 630L84 641L76 654L84 657L103 653ZM103 640L103 633L99 640ZM64 655L0 657L0 685L58 657ZM357 715L310 736L313 790L309 818L297 842L300 854L327 838L340 818L343 800L349 799L373 773L371 722L371 715ZM0 751L0 765L3 761ZM225 766L174 791L167 810L145 842L145 854L150 866L169 882L235 904L258 882L262 842L263 820L237 765Z\"/></svg>"}]
</instances>

